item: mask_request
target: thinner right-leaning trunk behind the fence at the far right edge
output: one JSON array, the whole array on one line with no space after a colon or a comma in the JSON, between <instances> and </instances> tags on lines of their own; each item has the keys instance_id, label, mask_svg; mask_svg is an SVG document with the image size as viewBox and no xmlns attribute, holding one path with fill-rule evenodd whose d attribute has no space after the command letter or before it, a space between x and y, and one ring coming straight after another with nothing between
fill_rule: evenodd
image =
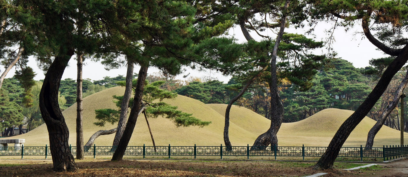
<instances>
[{"instance_id":1,"label":"thinner right-leaning trunk behind the fence at the far right edge","mask_svg":"<svg viewBox=\"0 0 408 177\"><path fill-rule=\"evenodd\" d=\"M401 97L402 92L404 91L404 88L406 87L407 83L408 83L408 71L406 72L405 77L402 80L401 84L399 84L397 90L395 91L394 99L391 101L390 105L388 105L388 107L382 112L381 116L379 117L373 128L371 128L370 131L368 131L366 148L373 147L375 135L381 129L382 125L387 119L387 116L391 114L392 110L395 107L397 107L398 100Z\"/></svg>"}]
</instances>

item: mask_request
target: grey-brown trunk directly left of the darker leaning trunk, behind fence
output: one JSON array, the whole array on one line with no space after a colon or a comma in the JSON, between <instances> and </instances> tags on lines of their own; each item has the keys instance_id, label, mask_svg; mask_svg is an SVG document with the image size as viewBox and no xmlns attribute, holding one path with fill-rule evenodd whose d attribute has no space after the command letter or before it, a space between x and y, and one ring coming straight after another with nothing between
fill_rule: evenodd
<instances>
[{"instance_id":1,"label":"grey-brown trunk directly left of the darker leaning trunk, behind fence","mask_svg":"<svg viewBox=\"0 0 408 177\"><path fill-rule=\"evenodd\" d=\"M132 80L133 80L133 62L128 59L125 93L123 94L122 105L120 105L120 117L119 117L119 122L118 122L118 131L116 131L112 146L118 146L120 138L122 138L123 131L126 127L126 121L128 118L129 100L132 95Z\"/></svg>"}]
</instances>

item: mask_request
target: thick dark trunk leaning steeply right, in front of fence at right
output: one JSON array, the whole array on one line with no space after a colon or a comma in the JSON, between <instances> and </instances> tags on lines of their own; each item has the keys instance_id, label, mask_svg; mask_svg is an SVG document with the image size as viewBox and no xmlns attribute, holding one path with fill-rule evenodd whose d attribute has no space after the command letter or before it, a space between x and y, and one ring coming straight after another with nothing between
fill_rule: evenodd
<instances>
[{"instance_id":1,"label":"thick dark trunk leaning steeply right, in front of fence at right","mask_svg":"<svg viewBox=\"0 0 408 177\"><path fill-rule=\"evenodd\" d=\"M340 126L333 139L330 141L326 152L320 160L313 166L315 169L328 169L333 166L341 146L350 135L351 131L363 120L371 108L375 105L384 91L387 89L392 77L404 66L408 60L408 45L402 48L401 53L388 65L381 76L381 79L375 85L373 91L367 96L366 100L357 108L357 110Z\"/></svg>"}]
</instances>

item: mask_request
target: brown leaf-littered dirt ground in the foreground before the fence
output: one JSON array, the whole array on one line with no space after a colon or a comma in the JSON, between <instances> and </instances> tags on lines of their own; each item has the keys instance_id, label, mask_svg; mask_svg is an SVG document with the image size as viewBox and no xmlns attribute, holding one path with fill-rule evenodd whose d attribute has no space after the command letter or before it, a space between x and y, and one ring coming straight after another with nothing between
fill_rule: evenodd
<instances>
[{"instance_id":1,"label":"brown leaf-littered dirt ground in the foreground before the fence","mask_svg":"<svg viewBox=\"0 0 408 177\"><path fill-rule=\"evenodd\" d=\"M1 177L408 177L408 160L364 170L341 170L364 164L335 164L337 169L312 170L310 162L188 161L188 160L77 160L79 173L52 170L51 160L1 160Z\"/></svg>"}]
</instances>

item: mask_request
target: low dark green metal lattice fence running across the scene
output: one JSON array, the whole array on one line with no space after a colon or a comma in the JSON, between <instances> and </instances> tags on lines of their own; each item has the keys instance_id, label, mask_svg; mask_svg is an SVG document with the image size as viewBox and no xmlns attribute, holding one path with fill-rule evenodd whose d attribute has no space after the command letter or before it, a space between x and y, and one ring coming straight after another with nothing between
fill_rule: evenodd
<instances>
[{"instance_id":1,"label":"low dark green metal lattice fence running across the scene","mask_svg":"<svg viewBox=\"0 0 408 177\"><path fill-rule=\"evenodd\" d=\"M70 146L71 153L76 155L76 146ZM85 155L113 155L116 146L85 146ZM128 146L124 155L135 156L253 156L266 157L321 157L327 147L317 146ZM7 155L40 155L47 158L51 155L50 147L45 146L21 146L0 147L0 156ZM383 146L383 147L341 147L337 157L383 158L384 161L408 155L408 145Z\"/></svg>"}]
</instances>

